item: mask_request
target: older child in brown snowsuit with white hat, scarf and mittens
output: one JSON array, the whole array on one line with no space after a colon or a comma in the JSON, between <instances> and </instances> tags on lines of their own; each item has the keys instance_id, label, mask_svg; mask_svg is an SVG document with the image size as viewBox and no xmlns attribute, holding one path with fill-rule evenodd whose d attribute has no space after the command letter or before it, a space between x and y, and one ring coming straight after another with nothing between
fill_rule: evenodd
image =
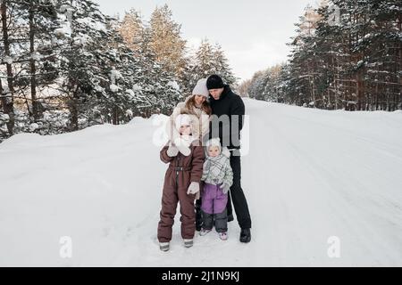
<instances>
[{"instance_id":1,"label":"older child in brown snowsuit with white hat, scarf and mittens","mask_svg":"<svg viewBox=\"0 0 402 285\"><path fill-rule=\"evenodd\" d=\"M199 192L205 160L204 148L198 137L191 135L191 119L187 114L175 118L180 137L168 142L161 151L161 160L169 163L164 175L161 219L158 224L158 240L161 250L169 250L172 225L180 202L181 237L185 247L193 245L196 232L194 199Z\"/></svg>"}]
</instances>

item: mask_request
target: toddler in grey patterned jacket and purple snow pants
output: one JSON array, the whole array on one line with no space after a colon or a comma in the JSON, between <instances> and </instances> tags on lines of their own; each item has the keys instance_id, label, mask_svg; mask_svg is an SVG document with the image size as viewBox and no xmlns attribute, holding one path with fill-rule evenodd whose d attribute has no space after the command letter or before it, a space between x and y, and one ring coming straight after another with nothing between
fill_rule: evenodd
<instances>
[{"instance_id":1,"label":"toddler in grey patterned jacket and purple snow pants","mask_svg":"<svg viewBox=\"0 0 402 285\"><path fill-rule=\"evenodd\" d=\"M205 182L202 195L201 209L203 211L203 228L200 235L212 231L215 225L216 232L221 240L227 240L228 216L226 204L228 191L233 183L233 172L230 159L222 154L219 138L206 142L206 159L201 180Z\"/></svg>"}]
</instances>

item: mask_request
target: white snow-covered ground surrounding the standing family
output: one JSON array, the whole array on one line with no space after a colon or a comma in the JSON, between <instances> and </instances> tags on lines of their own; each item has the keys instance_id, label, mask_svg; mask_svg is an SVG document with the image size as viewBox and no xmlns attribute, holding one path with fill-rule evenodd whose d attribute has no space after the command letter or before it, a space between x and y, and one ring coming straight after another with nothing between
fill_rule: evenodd
<instances>
[{"instance_id":1,"label":"white snow-covered ground surrounding the standing family","mask_svg":"<svg viewBox=\"0 0 402 285\"><path fill-rule=\"evenodd\" d=\"M0 265L401 266L402 112L245 102L249 244L231 222L229 240L211 232L184 248L178 214L171 251L159 250L155 122L167 117L155 116L1 143ZM60 256L64 236L71 258Z\"/></svg>"}]
</instances>

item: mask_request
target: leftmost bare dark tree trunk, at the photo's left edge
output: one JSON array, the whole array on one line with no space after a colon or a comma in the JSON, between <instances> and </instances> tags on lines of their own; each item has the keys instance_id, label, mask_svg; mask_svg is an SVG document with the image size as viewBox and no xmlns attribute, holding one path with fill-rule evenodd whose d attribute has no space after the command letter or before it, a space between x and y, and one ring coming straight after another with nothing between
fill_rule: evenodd
<instances>
[{"instance_id":1,"label":"leftmost bare dark tree trunk, at the photo's left edge","mask_svg":"<svg viewBox=\"0 0 402 285\"><path fill-rule=\"evenodd\" d=\"M9 37L8 37L8 26L7 26L7 1L2 0L1 1L1 6L0 6L0 11L1 11L1 17L2 17L2 28L3 28L3 44L4 44L4 54L5 56L10 56L10 42L9 42ZM10 135L13 135L13 128L14 128L14 87L13 87L13 69L12 65L10 63L5 64L6 69L7 69L7 84L8 84L8 89L11 94L11 98L5 98L4 97L4 91L2 88L2 104L3 104L3 109L4 113L6 113L9 116L9 121L7 122L7 129L8 133Z\"/></svg>"}]
</instances>

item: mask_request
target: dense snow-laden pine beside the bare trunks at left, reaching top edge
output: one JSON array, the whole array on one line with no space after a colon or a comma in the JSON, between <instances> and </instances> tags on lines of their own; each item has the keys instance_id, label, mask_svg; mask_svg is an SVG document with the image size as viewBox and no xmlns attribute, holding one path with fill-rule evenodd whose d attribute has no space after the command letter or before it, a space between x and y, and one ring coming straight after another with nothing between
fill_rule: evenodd
<instances>
[{"instance_id":1,"label":"dense snow-laden pine beside the bare trunks at left, reaching top edge","mask_svg":"<svg viewBox=\"0 0 402 285\"><path fill-rule=\"evenodd\" d=\"M70 129L78 130L80 125L88 125L86 113L96 105L96 86L105 79L105 66L98 59L105 53L103 43L110 32L106 29L107 17L94 2L63 0L58 5L64 17L59 90L71 113Z\"/></svg>"}]
</instances>

